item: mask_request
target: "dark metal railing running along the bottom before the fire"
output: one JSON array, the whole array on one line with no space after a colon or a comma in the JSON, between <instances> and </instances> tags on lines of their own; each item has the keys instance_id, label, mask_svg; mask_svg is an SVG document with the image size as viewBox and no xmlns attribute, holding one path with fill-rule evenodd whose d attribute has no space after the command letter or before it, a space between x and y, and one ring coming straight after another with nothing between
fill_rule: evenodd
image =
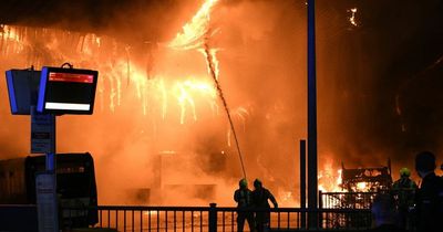
<instances>
[{"instance_id":1,"label":"dark metal railing running along the bottom before the fire","mask_svg":"<svg viewBox=\"0 0 443 232\"><path fill-rule=\"evenodd\" d=\"M63 208L64 226L70 226L69 215L82 215L95 211L97 228L117 231L174 231L174 232L234 232L237 231L237 208L210 207L111 207ZM371 213L365 209L319 209L310 211L299 208L241 210L245 213L269 212L272 231L302 230L364 230L371 225ZM316 221L308 223L302 219ZM245 231L249 231L245 223Z\"/></svg>"}]
</instances>

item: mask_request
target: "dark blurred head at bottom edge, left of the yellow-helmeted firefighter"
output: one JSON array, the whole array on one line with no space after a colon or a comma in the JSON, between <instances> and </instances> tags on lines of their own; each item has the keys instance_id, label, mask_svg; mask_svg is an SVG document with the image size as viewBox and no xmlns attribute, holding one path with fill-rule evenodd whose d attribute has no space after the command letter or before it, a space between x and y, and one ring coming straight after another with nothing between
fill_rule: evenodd
<instances>
[{"instance_id":1,"label":"dark blurred head at bottom edge, left of the yellow-helmeted firefighter","mask_svg":"<svg viewBox=\"0 0 443 232\"><path fill-rule=\"evenodd\" d=\"M405 232L396 225L395 199L391 194L378 194L372 202L372 220L375 228L371 232Z\"/></svg>"}]
</instances>

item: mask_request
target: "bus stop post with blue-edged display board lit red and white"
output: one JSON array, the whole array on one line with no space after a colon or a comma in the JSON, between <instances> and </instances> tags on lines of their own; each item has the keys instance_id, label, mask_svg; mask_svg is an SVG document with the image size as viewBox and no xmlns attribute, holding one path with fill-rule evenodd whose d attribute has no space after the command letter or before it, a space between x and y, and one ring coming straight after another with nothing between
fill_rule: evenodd
<instances>
[{"instance_id":1,"label":"bus stop post with blue-edged display board lit red and white","mask_svg":"<svg viewBox=\"0 0 443 232\"><path fill-rule=\"evenodd\" d=\"M68 64L70 68L63 68ZM92 115L99 72L43 66L7 71L11 113L31 115L31 154L47 155L47 171L35 177L40 232L59 232L55 115Z\"/></svg>"}]
</instances>

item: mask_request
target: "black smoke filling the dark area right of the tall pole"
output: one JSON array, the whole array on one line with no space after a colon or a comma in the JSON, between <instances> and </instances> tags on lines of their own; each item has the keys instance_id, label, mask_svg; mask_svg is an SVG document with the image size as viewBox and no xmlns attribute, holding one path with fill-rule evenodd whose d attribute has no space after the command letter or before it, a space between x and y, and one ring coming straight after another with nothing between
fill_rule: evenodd
<instances>
[{"instance_id":1,"label":"black smoke filling the dark area right of the tall pole","mask_svg":"<svg viewBox=\"0 0 443 232\"><path fill-rule=\"evenodd\" d=\"M443 1L317 3L328 144L362 166L372 157L411 164L420 150L442 152ZM358 27L346 22L351 8Z\"/></svg>"}]
</instances>

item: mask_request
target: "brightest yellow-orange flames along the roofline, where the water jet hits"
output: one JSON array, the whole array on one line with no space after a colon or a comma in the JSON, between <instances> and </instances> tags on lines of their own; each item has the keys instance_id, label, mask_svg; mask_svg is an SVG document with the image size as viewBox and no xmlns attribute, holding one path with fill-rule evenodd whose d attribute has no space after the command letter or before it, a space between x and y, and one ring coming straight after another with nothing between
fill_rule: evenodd
<instances>
[{"instance_id":1,"label":"brightest yellow-orange flames along the roofline, where the water jet hits","mask_svg":"<svg viewBox=\"0 0 443 232\"><path fill-rule=\"evenodd\" d=\"M213 61L217 77L219 62L216 56L220 49L210 48L205 51L204 45L208 38L214 35L214 33L209 33L210 12L218 1L206 0L192 20L183 27L183 31L177 33L176 38L167 43L167 46L163 46L169 49L169 51L165 50L166 52L171 52L171 49L182 51L193 49L202 52L205 55L205 62L208 61L206 56ZM35 36L27 34L35 34ZM44 40L40 41L39 38L44 38ZM143 115L157 112L158 116L165 119L168 110L171 112L174 106L177 106L179 122L184 124L187 117L197 120L196 107L199 107L197 102L209 106L213 116L218 115L217 91L210 78L188 74L184 78L164 74L162 71L158 74L146 76L145 68L130 60L131 48L113 38L56 29L1 25L0 39L2 42L7 42L2 43L0 52L7 55L25 56L28 59L25 65L32 64L38 67L42 65L42 60L39 60L38 56L29 56L34 52L32 48L39 44L39 48L42 48L47 54L51 54L51 59L56 63L69 61L85 68L99 70L101 78L99 78L97 85L97 99L101 104L97 105L102 110L106 105L111 112L115 112L123 104L123 99L127 98L124 95L133 94L141 103L140 108ZM64 52L66 45L73 48L74 51ZM44 63L44 65L54 64ZM207 67L209 68L209 64ZM125 92L126 89L130 92ZM240 112L243 113L238 116L244 120L247 114L245 110Z\"/></svg>"}]
</instances>

